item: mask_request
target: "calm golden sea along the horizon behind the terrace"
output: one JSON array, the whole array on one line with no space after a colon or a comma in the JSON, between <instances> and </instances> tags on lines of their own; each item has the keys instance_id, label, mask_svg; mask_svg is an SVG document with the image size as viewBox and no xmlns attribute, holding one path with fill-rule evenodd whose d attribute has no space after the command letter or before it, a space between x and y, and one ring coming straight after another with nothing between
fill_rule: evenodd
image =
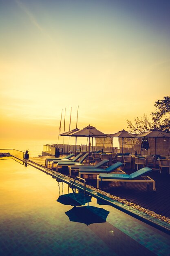
<instances>
[{"instance_id":1,"label":"calm golden sea along the horizon behind the terrace","mask_svg":"<svg viewBox=\"0 0 170 256\"><path fill-rule=\"evenodd\" d=\"M114 138L115 143L113 146L119 147L117 138ZM78 138L77 138L78 140ZM70 144L75 144L73 139L69 141ZM63 143L63 138L59 140L59 144ZM77 141L77 145L83 143L82 141ZM84 141L86 143L86 141ZM57 144L57 139L11 139L11 138L1 138L0 139L0 149L16 149L20 151L29 150L30 157L38 157L42 155L43 146L46 144ZM65 138L64 144L68 144L68 137ZM5 153L7 150L4 150Z\"/></svg>"}]
</instances>

